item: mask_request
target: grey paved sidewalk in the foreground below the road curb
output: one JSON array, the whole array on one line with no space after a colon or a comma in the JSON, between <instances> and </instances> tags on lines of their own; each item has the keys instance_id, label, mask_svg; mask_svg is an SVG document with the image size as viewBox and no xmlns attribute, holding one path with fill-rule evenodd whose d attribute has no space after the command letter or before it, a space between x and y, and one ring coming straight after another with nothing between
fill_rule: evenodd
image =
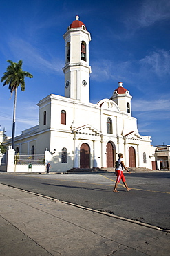
<instances>
[{"instance_id":1,"label":"grey paved sidewalk in the foreground below the road curb","mask_svg":"<svg viewBox=\"0 0 170 256\"><path fill-rule=\"evenodd\" d=\"M169 255L170 233L0 184L2 256Z\"/></svg>"}]
</instances>

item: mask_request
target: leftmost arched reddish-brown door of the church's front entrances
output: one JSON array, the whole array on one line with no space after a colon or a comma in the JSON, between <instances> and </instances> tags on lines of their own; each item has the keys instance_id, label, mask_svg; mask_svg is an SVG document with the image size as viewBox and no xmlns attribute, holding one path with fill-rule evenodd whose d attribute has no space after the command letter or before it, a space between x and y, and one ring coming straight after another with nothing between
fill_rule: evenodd
<instances>
[{"instance_id":1,"label":"leftmost arched reddish-brown door of the church's front entrances","mask_svg":"<svg viewBox=\"0 0 170 256\"><path fill-rule=\"evenodd\" d=\"M87 143L83 143L81 145L81 159L80 159L80 167L81 168L90 168L89 166L89 156L90 156L90 149Z\"/></svg>"}]
</instances>

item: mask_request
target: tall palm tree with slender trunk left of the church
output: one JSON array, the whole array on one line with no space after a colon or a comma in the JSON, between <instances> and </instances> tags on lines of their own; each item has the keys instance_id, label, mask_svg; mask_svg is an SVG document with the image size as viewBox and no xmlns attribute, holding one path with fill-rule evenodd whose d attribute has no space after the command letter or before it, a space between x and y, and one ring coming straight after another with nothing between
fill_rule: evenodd
<instances>
[{"instance_id":1,"label":"tall palm tree with slender trunk left of the church","mask_svg":"<svg viewBox=\"0 0 170 256\"><path fill-rule=\"evenodd\" d=\"M15 133L15 115L16 115L16 103L17 103L17 88L21 85L21 91L25 91L25 77L32 78L33 75L29 72L22 70L23 61L19 60L18 63L12 62L12 60L7 60L10 65L6 68L6 72L3 73L1 77L1 82L4 82L3 86L8 85L8 89L12 93L14 91L14 111L13 111L13 124L12 124L12 148L14 149L14 133Z\"/></svg>"}]
</instances>

